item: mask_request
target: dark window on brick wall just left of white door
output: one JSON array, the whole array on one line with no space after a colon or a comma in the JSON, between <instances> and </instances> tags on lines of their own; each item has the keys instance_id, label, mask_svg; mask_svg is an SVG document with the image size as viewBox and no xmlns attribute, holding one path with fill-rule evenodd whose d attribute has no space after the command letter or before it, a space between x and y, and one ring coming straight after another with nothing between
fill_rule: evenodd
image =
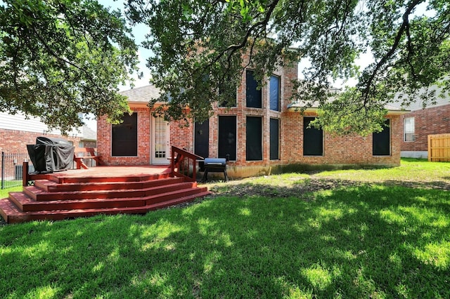
<instances>
[{"instance_id":1,"label":"dark window on brick wall just left of white door","mask_svg":"<svg viewBox=\"0 0 450 299\"><path fill-rule=\"evenodd\" d=\"M122 124L112 125L111 155L136 157L138 155L138 114L124 113Z\"/></svg>"}]
</instances>

